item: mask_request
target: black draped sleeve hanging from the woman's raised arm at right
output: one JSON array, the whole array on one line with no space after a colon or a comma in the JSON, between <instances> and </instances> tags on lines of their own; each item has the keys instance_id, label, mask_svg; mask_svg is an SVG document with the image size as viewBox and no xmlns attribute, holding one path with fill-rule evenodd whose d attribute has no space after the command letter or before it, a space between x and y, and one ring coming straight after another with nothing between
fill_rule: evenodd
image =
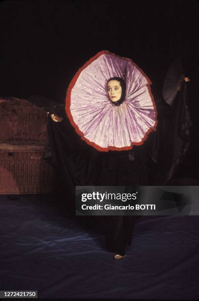
<instances>
[{"instance_id":1,"label":"black draped sleeve hanging from the woman's raised arm at right","mask_svg":"<svg viewBox=\"0 0 199 301\"><path fill-rule=\"evenodd\" d=\"M154 185L166 185L184 159L189 147L188 83L184 82L171 106L159 104L158 126L148 140L149 151L157 168Z\"/></svg>"}]
</instances>

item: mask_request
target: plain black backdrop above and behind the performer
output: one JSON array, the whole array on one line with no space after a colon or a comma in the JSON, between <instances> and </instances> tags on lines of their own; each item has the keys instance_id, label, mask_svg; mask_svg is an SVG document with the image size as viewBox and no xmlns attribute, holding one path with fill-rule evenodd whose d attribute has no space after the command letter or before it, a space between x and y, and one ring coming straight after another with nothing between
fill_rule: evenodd
<instances>
[{"instance_id":1,"label":"plain black backdrop above and behind the performer","mask_svg":"<svg viewBox=\"0 0 199 301\"><path fill-rule=\"evenodd\" d=\"M181 169L199 178L199 1L24 0L0 4L0 96L39 94L63 103L77 70L101 50L129 57L161 95L180 55L189 84L191 146Z\"/></svg>"}]
</instances>

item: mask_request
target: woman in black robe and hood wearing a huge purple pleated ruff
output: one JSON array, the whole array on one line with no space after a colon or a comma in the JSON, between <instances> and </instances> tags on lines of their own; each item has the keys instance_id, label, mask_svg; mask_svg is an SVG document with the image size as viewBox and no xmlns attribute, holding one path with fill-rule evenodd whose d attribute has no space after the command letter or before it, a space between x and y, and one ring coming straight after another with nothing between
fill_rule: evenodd
<instances>
[{"instance_id":1,"label":"woman in black robe and hood wearing a huge purple pleated ruff","mask_svg":"<svg viewBox=\"0 0 199 301\"><path fill-rule=\"evenodd\" d=\"M71 81L66 96L66 114L53 102L44 101L44 98L37 101L47 108L49 104L51 109L52 119L48 123L50 151L45 158L62 172L72 196L75 185L157 185L171 178L173 162L167 162L166 166L165 158L159 155L165 147L162 141L167 127L160 126L161 130L148 137L157 125L150 84L131 60L103 51L86 62ZM35 102L34 97L28 100ZM183 102L180 105L182 107ZM181 123L187 116L183 114L178 117ZM61 119L57 115L61 115ZM160 116L161 125L164 112ZM154 162L161 165L158 179L161 174L162 182L151 176L156 171ZM104 216L100 217L104 222ZM114 259L126 256L136 218L107 217L106 245L115 253Z\"/></svg>"}]
</instances>

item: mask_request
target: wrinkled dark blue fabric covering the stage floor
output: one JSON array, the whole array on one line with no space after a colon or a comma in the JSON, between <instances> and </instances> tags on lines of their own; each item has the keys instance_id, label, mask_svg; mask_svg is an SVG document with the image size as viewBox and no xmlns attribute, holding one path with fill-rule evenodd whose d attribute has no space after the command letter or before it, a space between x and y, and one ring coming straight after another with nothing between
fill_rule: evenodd
<instances>
[{"instance_id":1,"label":"wrinkled dark blue fabric covering the stage floor","mask_svg":"<svg viewBox=\"0 0 199 301\"><path fill-rule=\"evenodd\" d=\"M48 195L0 196L0 290L37 290L38 299L199 298L199 216L140 217L126 258L114 260L103 217L62 206Z\"/></svg>"}]
</instances>

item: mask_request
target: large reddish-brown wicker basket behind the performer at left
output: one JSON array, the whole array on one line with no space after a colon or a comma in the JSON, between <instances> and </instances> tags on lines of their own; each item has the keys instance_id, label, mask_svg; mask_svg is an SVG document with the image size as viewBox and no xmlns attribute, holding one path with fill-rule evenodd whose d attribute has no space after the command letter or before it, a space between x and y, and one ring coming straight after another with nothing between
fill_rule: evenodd
<instances>
[{"instance_id":1,"label":"large reddish-brown wicker basket behind the performer at left","mask_svg":"<svg viewBox=\"0 0 199 301\"><path fill-rule=\"evenodd\" d=\"M9 103L7 101L8 100L6 100L6 110L9 111L9 105L10 109L13 110L13 101L9 100ZM20 102L20 100L18 100L18 102ZM20 104L22 104L22 101ZM27 120L30 119L28 114L32 114L32 110L40 109L37 107L34 108L35 106L29 103L26 107L28 108L26 112ZM0 115L4 116L3 126L5 127L5 114L3 115L3 112L4 110L0 108ZM47 194L54 191L55 171L43 160L44 139L46 135L44 131L46 131L45 122L47 122L46 112L40 112L40 114L43 114L44 119L41 120L42 127L40 127L43 132L41 133L40 130L38 133L39 141L32 141L31 137L27 137L27 128L24 130L24 132L26 132L25 139L20 137L22 131L20 133L17 132L13 139L10 131L9 135L4 132L4 142L2 142L1 137L0 194ZM17 115L15 115L15 122L16 116ZM32 126L34 126L34 124L31 124L31 127ZM20 128L19 125L18 127ZM9 137L9 141L6 141L8 139L7 137ZM17 141L16 137L18 138ZM36 140L35 137L34 140Z\"/></svg>"}]
</instances>

